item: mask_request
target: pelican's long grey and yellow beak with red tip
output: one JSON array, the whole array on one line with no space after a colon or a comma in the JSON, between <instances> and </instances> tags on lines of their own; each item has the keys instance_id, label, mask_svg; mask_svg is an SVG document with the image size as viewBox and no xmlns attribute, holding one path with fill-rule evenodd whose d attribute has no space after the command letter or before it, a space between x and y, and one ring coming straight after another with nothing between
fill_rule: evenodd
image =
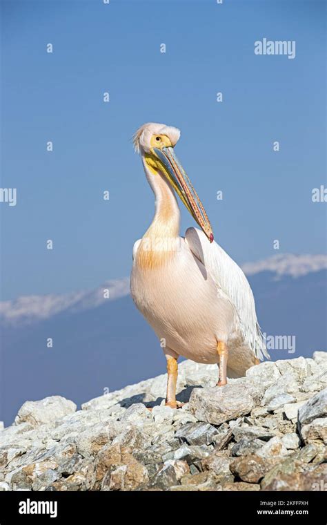
<instances>
[{"instance_id":1,"label":"pelican's long grey and yellow beak with red tip","mask_svg":"<svg viewBox=\"0 0 327 525\"><path fill-rule=\"evenodd\" d=\"M213 241L212 228L197 192L192 186L188 175L183 166L177 159L172 147L152 148L152 154L160 161L160 171L168 179L175 189L179 198L184 202L186 208L197 221L197 224L204 231L210 242Z\"/></svg>"}]
</instances>

